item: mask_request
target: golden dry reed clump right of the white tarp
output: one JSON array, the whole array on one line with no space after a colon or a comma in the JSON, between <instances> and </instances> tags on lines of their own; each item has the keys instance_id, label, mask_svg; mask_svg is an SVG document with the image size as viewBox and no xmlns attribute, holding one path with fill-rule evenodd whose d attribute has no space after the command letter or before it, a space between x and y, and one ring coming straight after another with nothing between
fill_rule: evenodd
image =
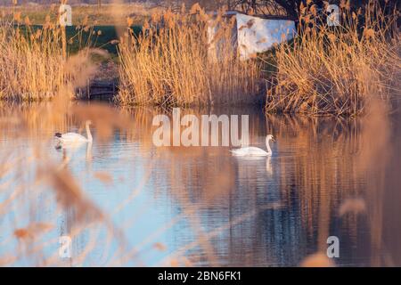
<instances>
[{"instance_id":1,"label":"golden dry reed clump right of the white tarp","mask_svg":"<svg viewBox=\"0 0 401 285\"><path fill-rule=\"evenodd\" d=\"M356 116L371 94L387 99L394 94L401 66L393 30L397 15L385 17L375 0L364 14L341 6L341 27L336 28L317 24L315 5L301 9L299 37L277 47L266 111Z\"/></svg>"}]
</instances>

